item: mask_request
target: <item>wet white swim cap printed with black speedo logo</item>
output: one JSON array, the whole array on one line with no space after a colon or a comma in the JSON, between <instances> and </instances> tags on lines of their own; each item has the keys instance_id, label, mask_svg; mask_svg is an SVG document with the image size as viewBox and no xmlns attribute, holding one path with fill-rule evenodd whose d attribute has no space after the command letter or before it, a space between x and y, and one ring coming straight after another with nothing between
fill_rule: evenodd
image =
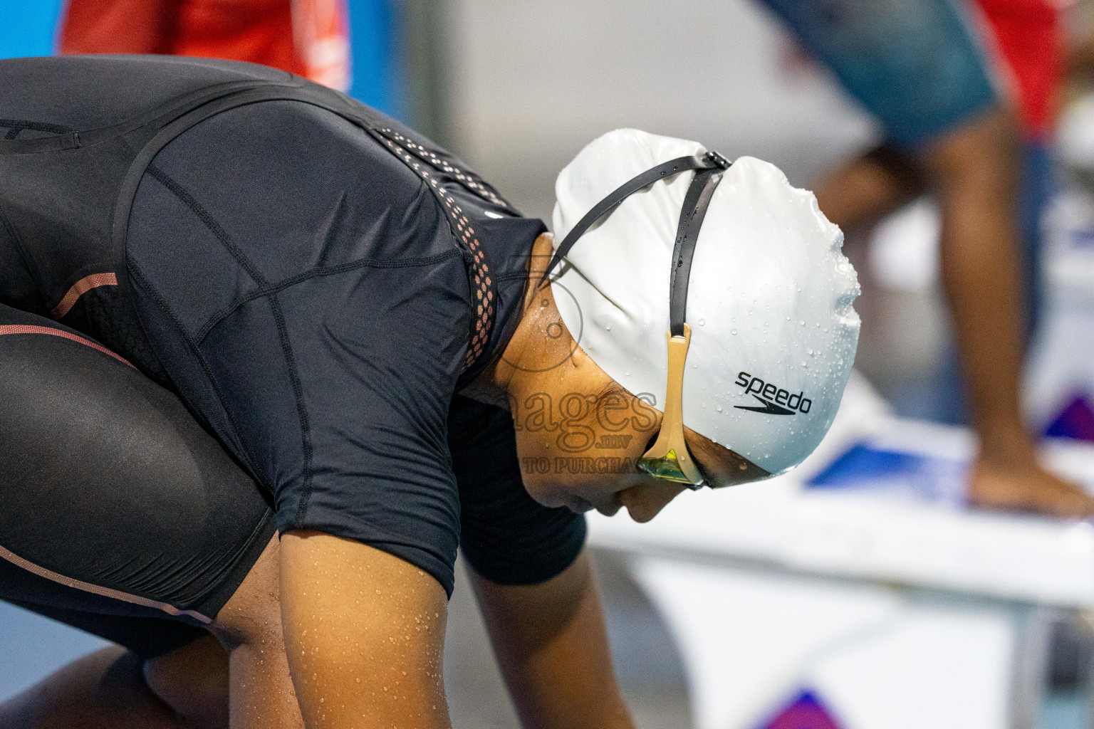
<instances>
[{"instance_id":1,"label":"wet white swim cap printed with black speedo logo","mask_svg":"<svg viewBox=\"0 0 1094 729\"><path fill-rule=\"evenodd\" d=\"M591 142L555 184L556 247L605 196L697 142L619 129ZM552 282L567 328L636 396L665 399L668 291L685 172L631 195L582 236ZM741 157L714 190L687 297L691 344L684 424L772 474L821 443L859 341L854 269L843 234L807 190Z\"/></svg>"}]
</instances>

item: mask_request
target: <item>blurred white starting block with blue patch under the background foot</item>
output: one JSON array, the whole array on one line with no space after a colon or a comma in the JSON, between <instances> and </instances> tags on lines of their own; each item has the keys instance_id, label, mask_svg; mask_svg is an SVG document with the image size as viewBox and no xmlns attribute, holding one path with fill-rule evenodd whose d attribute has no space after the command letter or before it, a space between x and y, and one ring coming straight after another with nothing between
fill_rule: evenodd
<instances>
[{"instance_id":1,"label":"blurred white starting block with blue patch under the background foot","mask_svg":"<svg viewBox=\"0 0 1094 729\"><path fill-rule=\"evenodd\" d=\"M853 379L799 470L590 517L679 647L697 729L1019 729L1054 611L1094 607L1094 527L965 508L973 437ZM1046 463L1094 485L1094 448Z\"/></svg>"}]
</instances>

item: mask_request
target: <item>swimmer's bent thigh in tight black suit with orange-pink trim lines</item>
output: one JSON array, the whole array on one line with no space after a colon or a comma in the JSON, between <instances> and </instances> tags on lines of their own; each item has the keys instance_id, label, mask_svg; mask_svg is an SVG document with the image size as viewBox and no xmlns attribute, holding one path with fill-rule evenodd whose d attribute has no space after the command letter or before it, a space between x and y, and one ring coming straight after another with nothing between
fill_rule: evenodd
<instances>
[{"instance_id":1,"label":"swimmer's bent thigh in tight black suit with orange-pink trim lines","mask_svg":"<svg viewBox=\"0 0 1094 729\"><path fill-rule=\"evenodd\" d=\"M0 305L0 599L144 657L205 633L274 537L255 483L168 391Z\"/></svg>"}]
</instances>

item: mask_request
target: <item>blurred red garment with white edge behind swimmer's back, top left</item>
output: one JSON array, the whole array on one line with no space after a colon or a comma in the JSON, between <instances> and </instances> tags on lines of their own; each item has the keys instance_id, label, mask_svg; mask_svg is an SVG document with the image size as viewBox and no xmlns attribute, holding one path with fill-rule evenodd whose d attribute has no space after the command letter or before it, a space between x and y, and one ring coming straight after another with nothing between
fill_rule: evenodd
<instances>
[{"instance_id":1,"label":"blurred red garment with white edge behind swimmer's back, top left","mask_svg":"<svg viewBox=\"0 0 1094 729\"><path fill-rule=\"evenodd\" d=\"M346 0L68 0L59 49L225 58L340 91L350 82Z\"/></svg>"}]
</instances>

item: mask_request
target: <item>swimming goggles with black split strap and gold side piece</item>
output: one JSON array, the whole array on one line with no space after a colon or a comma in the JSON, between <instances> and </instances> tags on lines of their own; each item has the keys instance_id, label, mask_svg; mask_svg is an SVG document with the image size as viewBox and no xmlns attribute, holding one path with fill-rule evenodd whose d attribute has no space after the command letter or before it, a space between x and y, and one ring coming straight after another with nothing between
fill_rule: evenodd
<instances>
[{"instance_id":1,"label":"swimming goggles with black split strap and gold side piece","mask_svg":"<svg viewBox=\"0 0 1094 729\"><path fill-rule=\"evenodd\" d=\"M673 269L668 284L668 381L665 388L664 416L656 440L638 459L638 468L650 475L682 483L696 491L703 486L717 487L708 479L701 467L691 457L684 439L684 364L691 344L691 328L685 321L687 314L687 286L691 274L691 259L695 244L699 239L699 228L707 215L707 208L714 189L722 181L722 174L733 164L718 152L703 155L677 157L647 169L616 188L610 195L593 207L578 221L569 235L555 249L555 255L544 271L539 285L566 257L573 245L601 219L610 215L628 197L654 183L668 179L689 169L695 177L684 197L679 225L676 227L676 243L673 247Z\"/></svg>"}]
</instances>

